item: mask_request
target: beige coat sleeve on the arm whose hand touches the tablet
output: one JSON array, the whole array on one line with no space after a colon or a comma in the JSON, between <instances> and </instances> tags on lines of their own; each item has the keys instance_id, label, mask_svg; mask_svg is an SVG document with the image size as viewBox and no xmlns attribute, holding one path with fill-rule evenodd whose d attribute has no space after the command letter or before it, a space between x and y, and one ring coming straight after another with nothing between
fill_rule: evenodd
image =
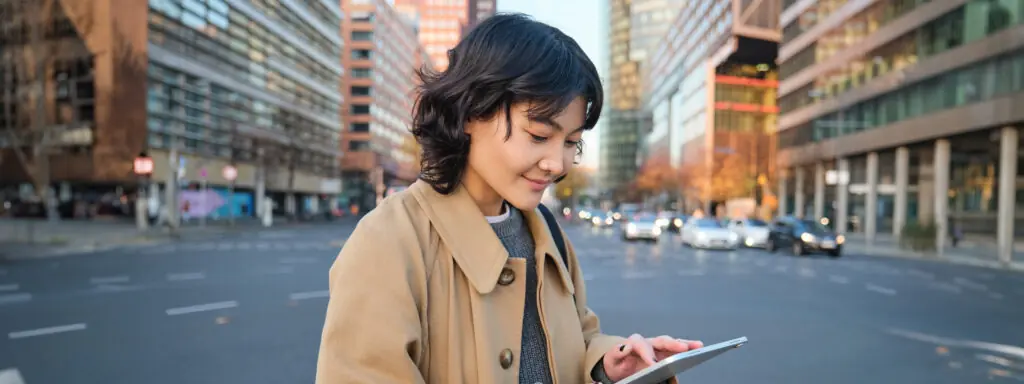
<instances>
[{"instance_id":1,"label":"beige coat sleeve on the arm whose hand touches the tablet","mask_svg":"<svg viewBox=\"0 0 1024 384\"><path fill-rule=\"evenodd\" d=\"M565 251L568 253L569 264L571 264L566 266L572 271L572 285L575 289L577 312L580 313L580 325L583 327L583 339L587 343L587 356L584 359L583 376L589 379L591 370L595 365L597 365L597 361L601 360L601 357L604 356L604 352L607 352L616 345L625 343L626 338L601 333L600 319L598 319L597 314L587 306L587 287L584 284L583 269L580 268L580 262L577 259L575 250L572 248L572 244L569 243L568 238L565 237L565 232L562 232L562 239L565 239Z\"/></svg>"}]
</instances>

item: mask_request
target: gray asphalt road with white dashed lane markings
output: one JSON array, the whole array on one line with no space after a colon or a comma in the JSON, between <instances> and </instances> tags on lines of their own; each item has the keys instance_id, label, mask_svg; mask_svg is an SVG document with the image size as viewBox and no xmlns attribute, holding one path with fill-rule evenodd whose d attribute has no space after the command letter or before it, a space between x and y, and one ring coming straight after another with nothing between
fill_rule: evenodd
<instances>
[{"instance_id":1,"label":"gray asphalt road with white dashed lane markings","mask_svg":"<svg viewBox=\"0 0 1024 384\"><path fill-rule=\"evenodd\" d=\"M310 383L334 242L350 230L0 265L0 383L4 370L27 384ZM1021 273L567 230L606 333L750 339L684 382L1024 381Z\"/></svg>"}]
</instances>

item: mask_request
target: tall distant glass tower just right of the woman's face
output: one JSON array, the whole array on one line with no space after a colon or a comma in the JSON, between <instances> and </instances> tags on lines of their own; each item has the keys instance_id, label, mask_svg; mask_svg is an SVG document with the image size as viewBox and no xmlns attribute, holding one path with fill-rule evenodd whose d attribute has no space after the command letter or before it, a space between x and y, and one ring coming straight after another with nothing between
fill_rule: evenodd
<instances>
[{"instance_id":1,"label":"tall distant glass tower just right of the woman's face","mask_svg":"<svg viewBox=\"0 0 1024 384\"><path fill-rule=\"evenodd\" d=\"M681 0L610 0L610 60L601 132L601 185L625 199L636 177L639 139L650 126L641 106L640 73L648 54L683 6Z\"/></svg>"}]
</instances>

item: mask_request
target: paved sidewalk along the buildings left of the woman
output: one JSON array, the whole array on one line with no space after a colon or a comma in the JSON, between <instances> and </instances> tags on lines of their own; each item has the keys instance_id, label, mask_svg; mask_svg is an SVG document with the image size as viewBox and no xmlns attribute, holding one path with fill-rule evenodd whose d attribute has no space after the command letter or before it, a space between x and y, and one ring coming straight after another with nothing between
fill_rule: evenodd
<instances>
[{"instance_id":1,"label":"paved sidewalk along the buildings left of the woman","mask_svg":"<svg viewBox=\"0 0 1024 384\"><path fill-rule=\"evenodd\" d=\"M140 232L133 220L123 219L61 220L50 223L40 219L3 218L0 219L0 261L69 256L121 247L211 239L242 231L344 221L346 218L334 221L288 221L282 217L275 218L273 226L269 228L254 218L239 218L233 226L227 221L209 221L206 226L191 221L179 227L176 234L171 234L169 228L163 226L151 226L145 232Z\"/></svg>"}]
</instances>

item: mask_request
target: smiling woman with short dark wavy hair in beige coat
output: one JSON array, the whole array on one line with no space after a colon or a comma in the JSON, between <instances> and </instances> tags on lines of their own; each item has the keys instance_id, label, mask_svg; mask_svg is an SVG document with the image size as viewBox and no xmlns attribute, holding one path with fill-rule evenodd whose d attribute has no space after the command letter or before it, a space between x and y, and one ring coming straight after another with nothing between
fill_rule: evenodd
<instances>
[{"instance_id":1,"label":"smiling woman with short dark wavy hair in beige coat","mask_svg":"<svg viewBox=\"0 0 1024 384\"><path fill-rule=\"evenodd\" d=\"M601 111L577 43L500 14L449 56L421 74L421 179L364 217L331 269L316 382L611 383L700 347L601 334L571 245L561 255L538 209Z\"/></svg>"}]
</instances>

